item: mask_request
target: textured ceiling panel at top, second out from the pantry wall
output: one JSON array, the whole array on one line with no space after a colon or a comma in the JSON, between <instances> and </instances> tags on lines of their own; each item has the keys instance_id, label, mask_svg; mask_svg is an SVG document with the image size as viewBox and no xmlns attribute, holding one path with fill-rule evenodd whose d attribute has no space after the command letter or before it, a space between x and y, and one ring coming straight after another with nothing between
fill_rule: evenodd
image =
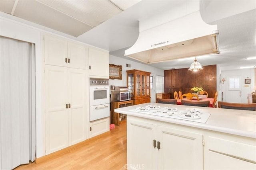
<instances>
[{"instance_id":1,"label":"textured ceiling panel at top, second out from the pantry wall","mask_svg":"<svg viewBox=\"0 0 256 170\"><path fill-rule=\"evenodd\" d=\"M39 0L39 2L93 27L122 12L107 0Z\"/></svg>"}]
</instances>

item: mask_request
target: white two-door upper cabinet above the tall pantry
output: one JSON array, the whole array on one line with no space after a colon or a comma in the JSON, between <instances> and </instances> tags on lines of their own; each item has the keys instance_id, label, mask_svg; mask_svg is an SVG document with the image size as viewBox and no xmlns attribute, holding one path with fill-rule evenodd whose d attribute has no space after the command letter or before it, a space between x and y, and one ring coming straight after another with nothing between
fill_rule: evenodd
<instances>
[{"instance_id":1,"label":"white two-door upper cabinet above the tall pantry","mask_svg":"<svg viewBox=\"0 0 256 170\"><path fill-rule=\"evenodd\" d=\"M86 68L88 47L52 35L44 35L45 64Z\"/></svg>"}]
</instances>

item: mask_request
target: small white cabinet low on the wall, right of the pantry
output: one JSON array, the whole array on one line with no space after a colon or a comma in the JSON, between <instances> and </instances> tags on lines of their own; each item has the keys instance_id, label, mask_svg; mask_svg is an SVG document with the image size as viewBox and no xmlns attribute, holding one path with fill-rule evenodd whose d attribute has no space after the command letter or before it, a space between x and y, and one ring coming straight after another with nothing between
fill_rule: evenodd
<instances>
[{"instance_id":1,"label":"small white cabinet low on the wall, right of the pantry","mask_svg":"<svg viewBox=\"0 0 256 170\"><path fill-rule=\"evenodd\" d=\"M91 121L89 124L88 138L100 135L107 131L109 131L109 117Z\"/></svg>"}]
</instances>

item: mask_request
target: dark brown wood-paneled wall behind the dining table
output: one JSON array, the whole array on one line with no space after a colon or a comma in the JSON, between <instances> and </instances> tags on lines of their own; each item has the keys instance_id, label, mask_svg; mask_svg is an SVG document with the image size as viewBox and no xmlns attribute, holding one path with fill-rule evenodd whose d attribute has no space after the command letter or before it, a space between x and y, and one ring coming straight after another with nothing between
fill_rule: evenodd
<instances>
[{"instance_id":1,"label":"dark brown wood-paneled wall behind the dining table","mask_svg":"<svg viewBox=\"0 0 256 170\"><path fill-rule=\"evenodd\" d=\"M202 87L208 92L208 98L214 98L216 92L216 65L203 66L198 72L188 71L188 68L164 70L164 92L173 93L181 91L182 94L192 93L192 87Z\"/></svg>"}]
</instances>

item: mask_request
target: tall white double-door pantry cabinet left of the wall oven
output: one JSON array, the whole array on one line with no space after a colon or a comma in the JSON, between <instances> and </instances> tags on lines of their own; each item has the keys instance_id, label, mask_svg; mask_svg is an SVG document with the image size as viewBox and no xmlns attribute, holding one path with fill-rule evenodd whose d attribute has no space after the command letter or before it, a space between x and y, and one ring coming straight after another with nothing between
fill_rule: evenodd
<instances>
[{"instance_id":1,"label":"tall white double-door pantry cabinet left of the wall oven","mask_svg":"<svg viewBox=\"0 0 256 170\"><path fill-rule=\"evenodd\" d=\"M45 65L46 154L86 139L85 70Z\"/></svg>"}]
</instances>

